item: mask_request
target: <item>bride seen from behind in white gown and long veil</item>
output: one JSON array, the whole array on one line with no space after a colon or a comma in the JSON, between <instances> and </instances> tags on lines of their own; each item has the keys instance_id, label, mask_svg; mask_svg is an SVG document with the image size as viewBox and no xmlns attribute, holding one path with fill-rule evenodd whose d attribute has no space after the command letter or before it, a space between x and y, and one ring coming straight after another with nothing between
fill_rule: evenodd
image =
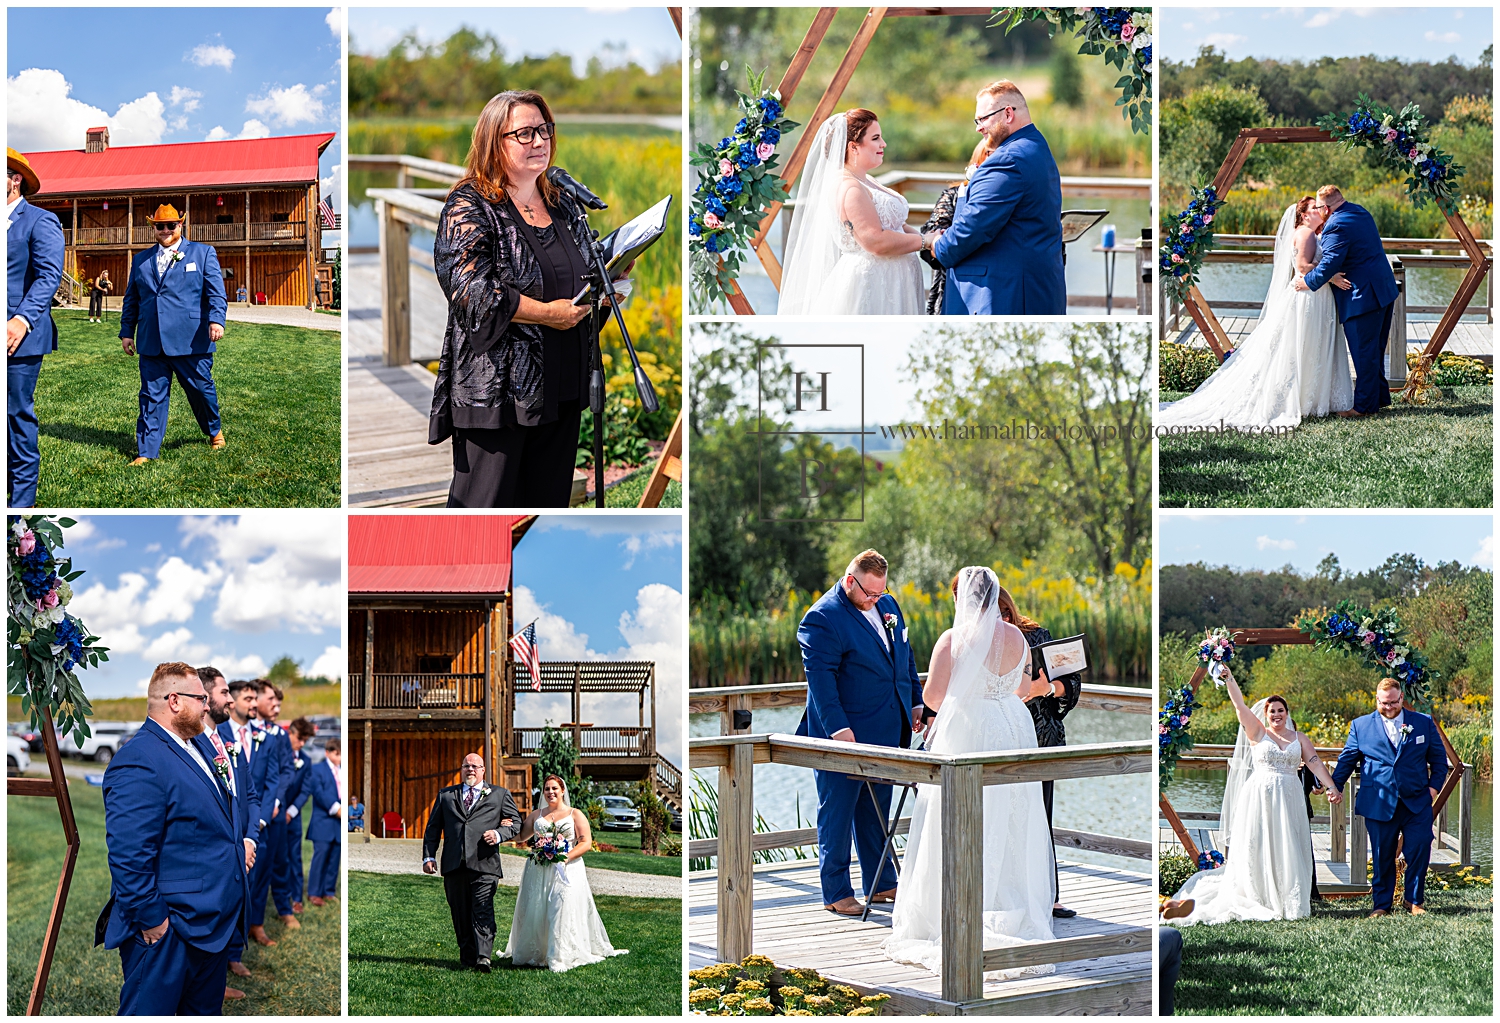
<instances>
[{"instance_id":1,"label":"bride seen from behind in white gown and long veil","mask_svg":"<svg viewBox=\"0 0 1500 1023\"><path fill-rule=\"evenodd\" d=\"M922 700L938 710L933 753L1036 748L1036 726L1016 694L1030 646L1000 618L1000 580L988 568L958 573L952 628L938 638ZM891 914L885 952L940 972L942 789L921 786ZM1052 940L1052 838L1041 783L984 788L984 948ZM1002 975L1050 974L1029 966ZM993 974L992 974L993 975Z\"/></svg>"}]
</instances>

